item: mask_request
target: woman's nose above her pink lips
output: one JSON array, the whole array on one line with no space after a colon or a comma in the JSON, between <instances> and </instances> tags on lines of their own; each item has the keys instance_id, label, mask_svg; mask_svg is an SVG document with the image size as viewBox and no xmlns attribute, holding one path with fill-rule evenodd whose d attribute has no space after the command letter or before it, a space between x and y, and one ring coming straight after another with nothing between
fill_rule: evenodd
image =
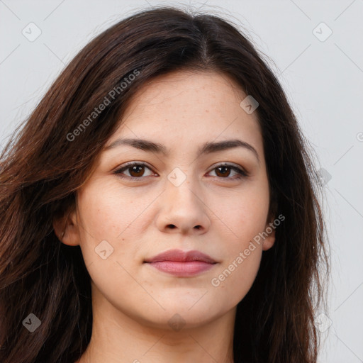
<instances>
[{"instance_id":1,"label":"woman's nose above her pink lips","mask_svg":"<svg viewBox=\"0 0 363 363\"><path fill-rule=\"evenodd\" d=\"M201 191L186 180L179 186L167 181L166 190L160 196L160 213L157 228L166 233L201 235L209 229L208 206L202 200Z\"/></svg>"}]
</instances>

